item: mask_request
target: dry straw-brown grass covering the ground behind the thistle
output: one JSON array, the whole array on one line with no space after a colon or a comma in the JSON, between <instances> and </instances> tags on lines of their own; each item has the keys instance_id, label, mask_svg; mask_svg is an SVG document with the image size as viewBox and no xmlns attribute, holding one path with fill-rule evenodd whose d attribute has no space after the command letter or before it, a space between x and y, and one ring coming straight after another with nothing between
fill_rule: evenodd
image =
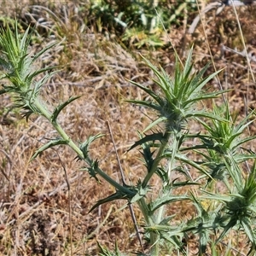
<instances>
[{"instance_id":1,"label":"dry straw-brown grass covering the ground behind the thistle","mask_svg":"<svg viewBox=\"0 0 256 256\"><path fill-rule=\"evenodd\" d=\"M22 26L44 19L43 25L37 24L40 33L33 40L32 52L45 47L52 40L62 40L55 51L44 55L38 65L62 67L61 72L44 88L42 97L49 105L65 101L69 96L82 96L61 115L61 123L68 134L74 140L84 141L89 135L106 133L106 137L96 141L91 153L101 160L102 170L118 180L119 166L108 135L108 120L127 181L137 181L140 173L145 171L137 160L139 154L136 150L125 154L125 150L137 140L137 130L143 129L149 120L145 115L146 109L135 108L123 102L124 97L143 98L142 92L126 79L150 84L150 73L140 63L137 52L129 52L114 40L92 32L92 28L83 27L84 17L76 13L75 7L83 7L85 3L38 1L37 5L44 8L29 8L28 1L9 3L3 1L2 15L9 14L3 16L3 26L5 20L14 14ZM32 4L30 1L29 3ZM52 9L54 15L45 8ZM244 57L233 52L221 52L221 45L241 51L236 17L231 8L225 9L216 18L213 16L213 13L207 16L206 32L217 68L226 67L219 79L224 88L234 89L229 96L234 111L244 114L247 105L254 108L256 84L247 72ZM256 50L256 9L241 8L239 17L249 51L253 53ZM185 35L186 44L178 29L173 29L171 35L177 36L178 39L171 38L181 54L195 42L195 67L200 68L210 60L201 26L197 27L193 36ZM172 71L173 49L159 49L154 54L143 51L143 55L151 55L154 61L160 61L167 70ZM251 64L253 73L256 73L256 62L252 61ZM218 88L217 81L209 84L211 86ZM103 205L88 213L97 200L113 193L113 188L103 181L97 184L87 173L81 172L81 163L74 160L75 154L68 148L48 150L30 162L34 151L56 135L42 118L32 117L27 123L21 119L19 111L9 108L9 96L1 96L1 102L2 255L70 255L71 252L73 255L96 255L96 241L113 247L115 240L123 252L139 249L129 211L119 210L125 201ZM255 128L251 127L250 132L255 133ZM154 186L157 186L157 180ZM170 209L183 216L189 210L186 204ZM142 224L137 209L135 212L138 223ZM131 234L133 235L130 236ZM236 243L238 240L237 238ZM190 247L194 246L192 239ZM239 245L241 250L242 247L246 250L245 244Z\"/></svg>"}]
</instances>

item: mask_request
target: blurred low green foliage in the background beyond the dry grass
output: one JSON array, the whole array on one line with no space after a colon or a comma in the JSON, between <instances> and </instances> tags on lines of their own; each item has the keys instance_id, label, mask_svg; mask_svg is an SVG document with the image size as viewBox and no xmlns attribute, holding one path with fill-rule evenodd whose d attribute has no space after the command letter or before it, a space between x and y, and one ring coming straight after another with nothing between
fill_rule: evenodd
<instances>
[{"instance_id":1,"label":"blurred low green foliage in the background beyond the dry grass","mask_svg":"<svg viewBox=\"0 0 256 256\"><path fill-rule=\"evenodd\" d=\"M101 0L91 2L90 15L101 32L121 33L122 41L137 48L157 47L165 44L163 25L182 23L186 10L195 8L195 1Z\"/></svg>"}]
</instances>

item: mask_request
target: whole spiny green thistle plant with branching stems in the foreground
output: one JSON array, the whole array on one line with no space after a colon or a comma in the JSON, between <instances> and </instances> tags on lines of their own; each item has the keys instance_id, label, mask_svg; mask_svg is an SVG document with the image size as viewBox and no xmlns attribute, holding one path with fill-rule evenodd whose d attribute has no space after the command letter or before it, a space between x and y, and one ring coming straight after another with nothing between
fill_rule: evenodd
<instances>
[{"instance_id":1,"label":"whole spiny green thistle plant with branching stems in the foreground","mask_svg":"<svg viewBox=\"0 0 256 256\"><path fill-rule=\"evenodd\" d=\"M252 141L255 137L242 138L243 131L252 123L253 112L245 119L234 119L229 106L216 107L212 111L200 108L201 102L214 102L224 91L207 92L205 85L218 74L206 76L208 65L199 72L193 71L192 49L184 65L178 56L175 72L170 76L162 67L154 65L143 58L146 65L154 73L154 83L158 91L131 81L143 90L149 100L127 100L143 108L149 108L156 118L144 131L138 131L138 141L129 150L139 148L142 154L144 177L139 177L137 183L118 183L107 172L101 169L99 160L90 156L90 144L102 137L102 134L88 137L82 143L76 143L69 137L58 122L58 116L69 103L78 96L70 97L67 102L61 102L50 111L44 99L40 97L44 83L55 71L53 67L34 70L33 64L40 55L55 44L42 49L36 55L29 55L31 40L30 28L21 35L15 23L14 32L9 27L0 34L1 58L3 67L1 79L8 80L0 94L9 93L15 98L15 107L20 108L26 119L38 114L49 121L58 137L44 144L32 156L38 156L47 148L56 145L67 145L73 149L76 159L84 162L83 170L96 180L99 177L115 188L115 193L97 201L91 211L103 203L125 200L127 205L136 204L143 214L143 238L148 242L148 255L161 255L161 252L188 253L185 240L189 234L195 234L199 241L199 254L206 253L207 247L212 247L216 255L215 245L228 236L231 230L241 230L247 235L251 245L249 253L255 253L255 175L256 164L247 171L243 163L255 159L255 154L241 145ZM39 75L44 74L39 79ZM219 100L218 100L219 101ZM190 122L204 127L204 131L192 133ZM238 125L237 125L238 122ZM191 145L191 142L193 146ZM247 153L244 153L247 152ZM188 154L192 153L192 154ZM193 155L200 156L194 160ZM197 177L192 177L192 172ZM178 179L177 179L178 174ZM150 199L153 192L154 177L160 179L158 195ZM212 189L212 183L221 183L225 194ZM189 188L181 193L181 189ZM214 187L214 186L213 186ZM187 201L195 209L195 214L188 219L178 219L168 216L166 208L174 202ZM206 203L207 202L207 203ZM108 249L101 247L102 255L113 255ZM116 254L120 255L116 245ZM145 252L141 255L147 255ZM253 254L252 254L253 255Z\"/></svg>"}]
</instances>

